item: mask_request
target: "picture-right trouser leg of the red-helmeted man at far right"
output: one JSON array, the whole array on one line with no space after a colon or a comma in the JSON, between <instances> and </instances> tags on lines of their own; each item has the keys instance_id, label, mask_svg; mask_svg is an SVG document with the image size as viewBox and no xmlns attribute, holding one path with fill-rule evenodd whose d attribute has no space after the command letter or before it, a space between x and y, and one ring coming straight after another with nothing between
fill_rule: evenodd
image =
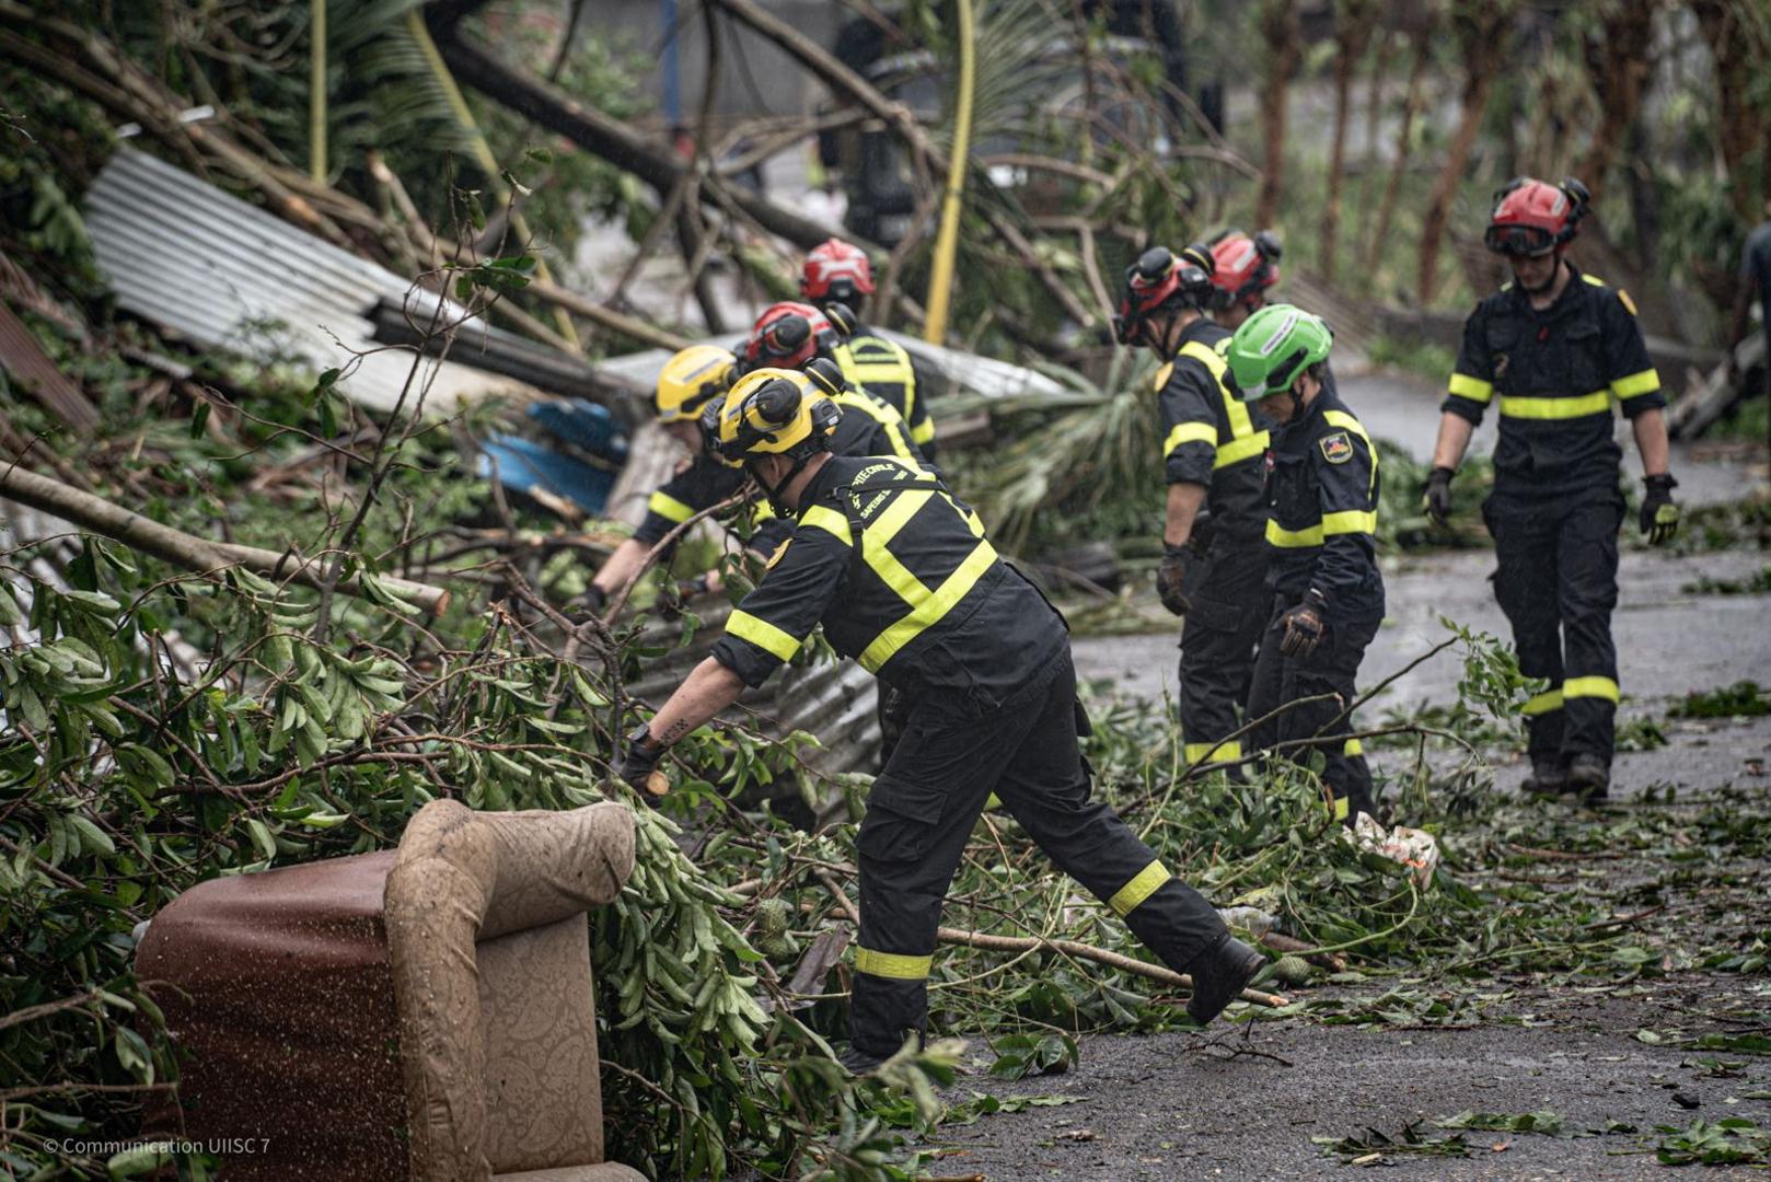
<instances>
[{"instance_id":1,"label":"picture-right trouser leg of the red-helmeted man at far right","mask_svg":"<svg viewBox=\"0 0 1771 1182\"><path fill-rule=\"evenodd\" d=\"M1562 517L1557 546L1562 617L1562 753L1610 762L1617 728L1617 526L1622 500L1606 491Z\"/></svg>"}]
</instances>

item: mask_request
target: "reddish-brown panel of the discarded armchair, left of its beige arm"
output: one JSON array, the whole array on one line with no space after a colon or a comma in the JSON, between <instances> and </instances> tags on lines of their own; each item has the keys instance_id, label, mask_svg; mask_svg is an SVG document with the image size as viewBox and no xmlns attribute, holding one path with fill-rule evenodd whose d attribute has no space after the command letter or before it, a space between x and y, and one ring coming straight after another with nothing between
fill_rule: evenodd
<instances>
[{"instance_id":1,"label":"reddish-brown panel of the discarded armchair, left of its beige arm","mask_svg":"<svg viewBox=\"0 0 1771 1182\"><path fill-rule=\"evenodd\" d=\"M149 925L136 975L182 1054L145 1131L250 1138L227 1177L409 1177L381 925L393 852L200 883Z\"/></svg>"}]
</instances>

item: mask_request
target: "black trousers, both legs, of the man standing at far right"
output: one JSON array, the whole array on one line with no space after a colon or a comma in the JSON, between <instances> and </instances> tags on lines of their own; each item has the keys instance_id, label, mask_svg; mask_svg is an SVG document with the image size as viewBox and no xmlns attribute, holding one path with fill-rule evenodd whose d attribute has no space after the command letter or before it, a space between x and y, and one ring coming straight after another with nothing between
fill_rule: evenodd
<instances>
[{"instance_id":1,"label":"black trousers, both legs, of the man standing at far right","mask_svg":"<svg viewBox=\"0 0 1771 1182\"><path fill-rule=\"evenodd\" d=\"M1610 764L1622 496L1615 489L1573 498L1496 489L1482 517L1495 535L1495 599L1512 624L1520 672L1550 680L1525 705L1532 760L1597 755Z\"/></svg>"}]
</instances>

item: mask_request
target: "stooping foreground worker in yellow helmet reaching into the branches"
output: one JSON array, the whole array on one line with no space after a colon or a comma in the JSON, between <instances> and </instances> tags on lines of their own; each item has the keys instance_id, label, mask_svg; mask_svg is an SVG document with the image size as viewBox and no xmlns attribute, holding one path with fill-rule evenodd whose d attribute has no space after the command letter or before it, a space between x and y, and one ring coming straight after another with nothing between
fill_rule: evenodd
<instances>
[{"instance_id":1,"label":"stooping foreground worker in yellow helmet reaching into the branches","mask_svg":"<svg viewBox=\"0 0 1771 1182\"><path fill-rule=\"evenodd\" d=\"M1263 957L1089 799L1077 744L1087 719L1063 617L926 468L831 455L838 413L793 374L765 369L703 415L708 450L744 464L792 516L793 537L712 656L625 739L618 774L645 797L671 743L763 684L822 624L838 654L914 702L857 835L861 932L843 1061L868 1070L924 1030L942 898L992 792L1165 964L1194 975L1187 1012L1208 1023Z\"/></svg>"}]
</instances>

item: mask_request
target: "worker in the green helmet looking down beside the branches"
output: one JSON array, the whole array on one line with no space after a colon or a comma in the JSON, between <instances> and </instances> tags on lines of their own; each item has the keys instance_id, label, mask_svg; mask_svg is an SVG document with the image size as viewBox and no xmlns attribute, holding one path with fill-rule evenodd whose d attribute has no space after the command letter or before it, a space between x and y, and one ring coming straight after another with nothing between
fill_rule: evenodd
<instances>
[{"instance_id":1,"label":"worker in the green helmet looking down beside the branches","mask_svg":"<svg viewBox=\"0 0 1771 1182\"><path fill-rule=\"evenodd\" d=\"M1249 718L1263 750L1323 753L1330 808L1348 826L1376 815L1371 767L1353 732L1358 663L1383 622L1378 571L1378 450L1328 372L1334 335L1286 303L1261 308L1229 342L1243 397L1273 420L1266 521L1272 590Z\"/></svg>"}]
</instances>

